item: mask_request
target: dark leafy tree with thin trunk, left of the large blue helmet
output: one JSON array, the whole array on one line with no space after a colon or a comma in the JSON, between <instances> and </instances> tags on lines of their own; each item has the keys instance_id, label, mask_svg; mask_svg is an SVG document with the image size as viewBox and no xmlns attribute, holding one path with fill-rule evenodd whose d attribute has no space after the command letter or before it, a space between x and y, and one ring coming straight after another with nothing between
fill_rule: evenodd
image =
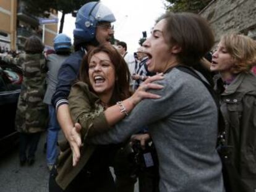
<instances>
[{"instance_id":1,"label":"dark leafy tree with thin trunk, left of the large blue helmet","mask_svg":"<svg viewBox=\"0 0 256 192\"><path fill-rule=\"evenodd\" d=\"M30 14L38 17L49 17L52 9L62 12L61 25L59 33L62 33L65 15L74 13L74 10L80 9L85 3L99 0L22 0L25 3L25 9Z\"/></svg>"}]
</instances>

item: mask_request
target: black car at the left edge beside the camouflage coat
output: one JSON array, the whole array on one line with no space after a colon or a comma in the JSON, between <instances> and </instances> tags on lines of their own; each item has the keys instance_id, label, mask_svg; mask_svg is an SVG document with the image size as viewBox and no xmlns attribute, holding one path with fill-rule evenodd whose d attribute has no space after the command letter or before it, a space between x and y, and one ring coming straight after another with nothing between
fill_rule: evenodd
<instances>
[{"instance_id":1,"label":"black car at the left edge beside the camouflage coat","mask_svg":"<svg viewBox=\"0 0 256 192\"><path fill-rule=\"evenodd\" d=\"M19 141L14 122L21 82L20 67L0 60L0 155Z\"/></svg>"}]
</instances>

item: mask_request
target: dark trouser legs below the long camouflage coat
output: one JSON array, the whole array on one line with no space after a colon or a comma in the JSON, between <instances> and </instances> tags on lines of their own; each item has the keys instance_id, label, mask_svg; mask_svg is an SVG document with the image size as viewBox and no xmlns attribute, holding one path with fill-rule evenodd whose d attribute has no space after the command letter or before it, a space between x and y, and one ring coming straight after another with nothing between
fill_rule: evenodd
<instances>
[{"instance_id":1,"label":"dark trouser legs below the long camouflage coat","mask_svg":"<svg viewBox=\"0 0 256 192\"><path fill-rule=\"evenodd\" d=\"M35 152L38 146L41 132L38 133L20 133L20 160L35 158ZM28 155L27 155L28 149Z\"/></svg>"}]
</instances>

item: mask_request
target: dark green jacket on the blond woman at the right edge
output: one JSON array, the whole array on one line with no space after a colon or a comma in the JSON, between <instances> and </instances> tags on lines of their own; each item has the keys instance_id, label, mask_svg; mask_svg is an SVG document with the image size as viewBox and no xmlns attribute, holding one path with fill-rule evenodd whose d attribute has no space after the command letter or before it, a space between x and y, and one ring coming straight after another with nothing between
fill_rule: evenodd
<instances>
[{"instance_id":1,"label":"dark green jacket on the blond woman at the right edge","mask_svg":"<svg viewBox=\"0 0 256 192\"><path fill-rule=\"evenodd\" d=\"M218 80L218 90L220 90ZM234 169L231 185L237 191L256 190L256 77L239 73L221 93L221 112L226 128L228 159Z\"/></svg>"}]
</instances>

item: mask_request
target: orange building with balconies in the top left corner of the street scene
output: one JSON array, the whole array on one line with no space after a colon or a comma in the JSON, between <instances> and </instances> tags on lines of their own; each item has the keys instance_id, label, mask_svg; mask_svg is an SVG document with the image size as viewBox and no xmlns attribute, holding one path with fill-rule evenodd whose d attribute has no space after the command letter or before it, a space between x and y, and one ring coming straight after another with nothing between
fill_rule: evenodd
<instances>
[{"instance_id":1,"label":"orange building with balconies in the top left corner of the street scene","mask_svg":"<svg viewBox=\"0 0 256 192\"><path fill-rule=\"evenodd\" d=\"M58 12L53 10L49 19L58 19ZM0 46L4 49L22 50L27 38L37 35L45 40L46 48L53 47L53 39L58 34L58 23L43 26L38 17L25 10L22 0L0 0Z\"/></svg>"}]
</instances>

